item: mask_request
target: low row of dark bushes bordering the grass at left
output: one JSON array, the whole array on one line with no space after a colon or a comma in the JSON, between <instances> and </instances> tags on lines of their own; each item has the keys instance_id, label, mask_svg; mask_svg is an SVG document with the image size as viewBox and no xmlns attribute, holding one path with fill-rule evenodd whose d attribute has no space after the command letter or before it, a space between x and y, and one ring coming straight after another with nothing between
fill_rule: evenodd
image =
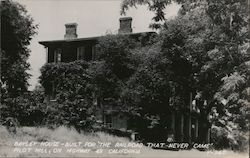
<instances>
[{"instance_id":1,"label":"low row of dark bushes bordering the grass at left","mask_svg":"<svg viewBox=\"0 0 250 158\"><path fill-rule=\"evenodd\" d=\"M22 96L5 98L0 106L0 123L7 127L73 126L76 129L90 130L95 122L94 109L89 101L76 98L74 101L44 102L44 97L36 92Z\"/></svg>"}]
</instances>

